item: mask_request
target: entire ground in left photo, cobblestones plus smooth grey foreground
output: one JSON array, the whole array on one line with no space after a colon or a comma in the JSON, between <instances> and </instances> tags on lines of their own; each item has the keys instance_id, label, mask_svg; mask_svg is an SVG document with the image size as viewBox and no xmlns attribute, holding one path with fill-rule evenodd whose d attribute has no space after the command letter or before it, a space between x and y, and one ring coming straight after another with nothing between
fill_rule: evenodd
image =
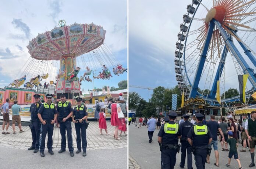
<instances>
[{"instance_id":1,"label":"entire ground in left photo, cobblestones plus smooth grey foreground","mask_svg":"<svg viewBox=\"0 0 256 169\"><path fill-rule=\"evenodd\" d=\"M99 134L98 123L91 121L88 129L86 129L87 138L87 156L82 157L82 153L70 157L68 146L66 152L58 154L61 146L61 135L59 128L54 127L53 131L53 152L54 155L47 153L45 149L45 157L40 157L40 153L28 151L31 146L32 136L29 127L22 127L25 131L19 133L19 128L16 126L16 133L13 134L13 129L10 126L8 131L11 134L2 135L0 133L0 168L102 168L102 169L127 169L127 136L124 134L119 136L120 140L113 138L114 127L107 121L107 128L110 135ZM0 125L2 132L2 125ZM47 137L47 136L46 136ZM74 152L77 150L75 126L72 123L72 137ZM47 138L46 138L47 140ZM47 143L47 141L46 141ZM13 161L15 159L15 162ZM3 162L4 161L4 162Z\"/></svg>"}]
</instances>

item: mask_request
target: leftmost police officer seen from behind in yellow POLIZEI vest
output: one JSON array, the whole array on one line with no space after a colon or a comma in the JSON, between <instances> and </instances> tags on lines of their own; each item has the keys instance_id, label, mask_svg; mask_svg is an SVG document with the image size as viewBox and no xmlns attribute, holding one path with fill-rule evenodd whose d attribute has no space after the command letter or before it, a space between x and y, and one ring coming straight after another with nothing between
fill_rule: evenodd
<instances>
[{"instance_id":1,"label":"leftmost police officer seen from behind in yellow POLIZEI vest","mask_svg":"<svg viewBox=\"0 0 256 169\"><path fill-rule=\"evenodd\" d=\"M181 137L181 128L174 122L177 113L169 113L170 121L161 126L158 133L158 142L162 156L162 168L173 169L176 163L176 154L179 151L179 138Z\"/></svg>"}]
</instances>

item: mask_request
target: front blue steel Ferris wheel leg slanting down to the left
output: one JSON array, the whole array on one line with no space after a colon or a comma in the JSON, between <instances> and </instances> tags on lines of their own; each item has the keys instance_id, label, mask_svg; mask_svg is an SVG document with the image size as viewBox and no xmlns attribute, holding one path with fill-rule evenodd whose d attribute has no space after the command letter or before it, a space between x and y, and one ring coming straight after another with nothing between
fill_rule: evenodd
<instances>
[{"instance_id":1,"label":"front blue steel Ferris wheel leg slanting down to the left","mask_svg":"<svg viewBox=\"0 0 256 169\"><path fill-rule=\"evenodd\" d=\"M191 91L189 93L189 98L195 98L196 94L197 94L197 90L198 90L198 84L202 75L202 71L203 71L203 65L205 64L205 60L207 57L207 51L210 45L210 41L211 41L211 36L213 34L213 28L214 28L214 22L211 20L210 21L210 26L209 29L207 31L207 35L206 35L206 40L205 43L203 45L203 52L201 54L200 60L199 60L199 64L196 70L196 74L195 74L195 78L194 78L194 82L192 84L191 87Z\"/></svg>"}]
</instances>

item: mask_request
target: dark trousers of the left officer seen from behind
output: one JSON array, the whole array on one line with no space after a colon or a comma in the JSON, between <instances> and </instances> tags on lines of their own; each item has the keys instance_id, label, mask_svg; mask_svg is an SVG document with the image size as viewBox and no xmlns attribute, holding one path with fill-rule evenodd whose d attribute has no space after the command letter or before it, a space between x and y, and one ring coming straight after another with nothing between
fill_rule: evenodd
<instances>
[{"instance_id":1,"label":"dark trousers of the left officer seen from behind","mask_svg":"<svg viewBox=\"0 0 256 169\"><path fill-rule=\"evenodd\" d=\"M162 169L174 169L177 150L164 149L161 151Z\"/></svg>"}]
</instances>

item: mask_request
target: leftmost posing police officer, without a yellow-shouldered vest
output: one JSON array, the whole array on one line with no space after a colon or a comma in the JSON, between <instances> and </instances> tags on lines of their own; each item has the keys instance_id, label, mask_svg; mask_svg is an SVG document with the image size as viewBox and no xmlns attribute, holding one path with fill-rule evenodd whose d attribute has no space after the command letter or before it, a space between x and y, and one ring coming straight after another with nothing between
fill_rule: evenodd
<instances>
[{"instance_id":1,"label":"leftmost posing police officer, without a yellow-shouldered vest","mask_svg":"<svg viewBox=\"0 0 256 169\"><path fill-rule=\"evenodd\" d=\"M34 150L34 153L37 153L40 144L40 121L38 119L38 110L42 104L39 102L39 94L34 94L33 97L35 103L33 103L29 109L31 116L30 129L32 134L32 146L29 147L28 150Z\"/></svg>"}]
</instances>

